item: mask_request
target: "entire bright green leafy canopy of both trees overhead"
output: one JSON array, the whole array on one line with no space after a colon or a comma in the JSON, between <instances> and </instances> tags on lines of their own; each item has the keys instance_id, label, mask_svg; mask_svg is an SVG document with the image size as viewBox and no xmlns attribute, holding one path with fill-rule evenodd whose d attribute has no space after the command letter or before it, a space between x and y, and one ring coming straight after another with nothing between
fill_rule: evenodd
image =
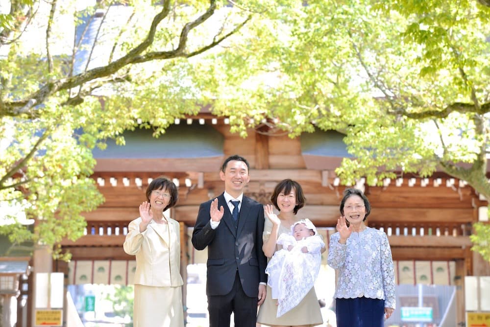
<instances>
[{"instance_id":1,"label":"entire bright green leafy canopy of both trees overhead","mask_svg":"<svg viewBox=\"0 0 490 327\"><path fill-rule=\"evenodd\" d=\"M0 21L0 199L40 222L40 241L78 237L101 203L95 146L158 137L206 105L242 136L266 119L292 137L344 133L346 184L441 169L490 197L485 1L126 2L11 1Z\"/></svg>"}]
</instances>

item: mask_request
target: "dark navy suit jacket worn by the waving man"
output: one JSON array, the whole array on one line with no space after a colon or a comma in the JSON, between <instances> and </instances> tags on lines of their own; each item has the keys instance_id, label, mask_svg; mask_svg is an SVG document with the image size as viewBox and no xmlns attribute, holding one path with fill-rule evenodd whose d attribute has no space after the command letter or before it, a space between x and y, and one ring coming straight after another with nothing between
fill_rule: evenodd
<instances>
[{"instance_id":1,"label":"dark navy suit jacket worn by the waving man","mask_svg":"<svg viewBox=\"0 0 490 327\"><path fill-rule=\"evenodd\" d=\"M267 258L262 252L264 207L244 195L235 228L223 194L218 197L218 208L224 208L218 227L213 230L210 223L213 199L200 205L192 233L197 250L208 248L206 294L229 293L238 269L245 294L256 297L259 282L267 282Z\"/></svg>"}]
</instances>

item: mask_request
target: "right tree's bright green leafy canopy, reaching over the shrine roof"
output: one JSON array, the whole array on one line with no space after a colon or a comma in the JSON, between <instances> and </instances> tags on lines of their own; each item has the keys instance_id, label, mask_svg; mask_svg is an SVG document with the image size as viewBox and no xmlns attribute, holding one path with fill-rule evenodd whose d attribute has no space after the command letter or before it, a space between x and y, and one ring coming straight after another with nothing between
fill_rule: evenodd
<instances>
[{"instance_id":1,"label":"right tree's bright green leafy canopy, reaching over the shrine roof","mask_svg":"<svg viewBox=\"0 0 490 327\"><path fill-rule=\"evenodd\" d=\"M382 185L442 170L489 199L488 4L307 2L264 22L277 31L269 46L216 55L208 77L223 92L213 96L215 110L236 115L232 128L240 133L264 117L292 137L315 129L344 133L355 158L336 171L345 184L365 177ZM246 60L237 67L240 58ZM250 109L239 115L229 108ZM475 241L486 237L480 225Z\"/></svg>"}]
</instances>

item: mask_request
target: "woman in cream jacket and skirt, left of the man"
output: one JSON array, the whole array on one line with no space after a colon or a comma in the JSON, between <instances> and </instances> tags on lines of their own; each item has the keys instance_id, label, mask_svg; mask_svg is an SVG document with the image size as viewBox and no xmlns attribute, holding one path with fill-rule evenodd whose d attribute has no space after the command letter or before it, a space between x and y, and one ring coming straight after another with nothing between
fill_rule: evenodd
<instances>
[{"instance_id":1,"label":"woman in cream jacket and skirt, left of the man","mask_svg":"<svg viewBox=\"0 0 490 327\"><path fill-rule=\"evenodd\" d=\"M146 196L123 245L127 254L136 256L133 326L183 327L179 223L163 214L177 202L177 187L158 177Z\"/></svg>"}]
</instances>

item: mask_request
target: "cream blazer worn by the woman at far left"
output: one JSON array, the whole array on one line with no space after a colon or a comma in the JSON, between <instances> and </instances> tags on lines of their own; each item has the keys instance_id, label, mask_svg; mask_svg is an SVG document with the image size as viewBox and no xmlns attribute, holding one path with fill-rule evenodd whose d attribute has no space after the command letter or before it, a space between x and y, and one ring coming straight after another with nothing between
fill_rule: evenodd
<instances>
[{"instance_id":1,"label":"cream blazer worn by the woman at far left","mask_svg":"<svg viewBox=\"0 0 490 327\"><path fill-rule=\"evenodd\" d=\"M151 221L140 233L141 217L131 221L124 240L124 252L136 256L134 283L147 286L182 286L180 276L180 227L168 219L168 232L163 233Z\"/></svg>"}]
</instances>

